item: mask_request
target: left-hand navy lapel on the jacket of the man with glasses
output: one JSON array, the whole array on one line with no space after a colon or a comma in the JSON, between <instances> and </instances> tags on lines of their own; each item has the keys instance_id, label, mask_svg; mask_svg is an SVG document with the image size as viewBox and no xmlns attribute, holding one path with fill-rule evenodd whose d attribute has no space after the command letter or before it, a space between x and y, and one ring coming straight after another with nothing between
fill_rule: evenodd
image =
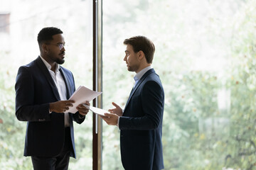
<instances>
[{"instance_id":1,"label":"left-hand navy lapel on the jacket of the man with glasses","mask_svg":"<svg viewBox=\"0 0 256 170\"><path fill-rule=\"evenodd\" d=\"M55 98L58 101L60 101L60 95L58 94L57 86L55 85L53 78L50 76L50 73L49 73L46 65L41 60L41 57L38 57L36 59L36 63L38 64L38 67L41 69L41 71L43 72L43 75L46 77L48 83L50 84L51 88L53 89L53 94L54 94Z\"/></svg>"}]
</instances>

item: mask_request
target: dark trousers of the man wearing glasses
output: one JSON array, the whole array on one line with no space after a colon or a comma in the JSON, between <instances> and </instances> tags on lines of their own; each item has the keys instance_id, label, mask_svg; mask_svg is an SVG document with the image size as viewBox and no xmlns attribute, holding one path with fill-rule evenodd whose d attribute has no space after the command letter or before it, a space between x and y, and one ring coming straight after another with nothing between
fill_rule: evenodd
<instances>
[{"instance_id":1,"label":"dark trousers of the man wearing glasses","mask_svg":"<svg viewBox=\"0 0 256 170\"><path fill-rule=\"evenodd\" d=\"M56 157L31 156L34 170L68 170L72 142L70 128L65 128L65 144Z\"/></svg>"}]
</instances>

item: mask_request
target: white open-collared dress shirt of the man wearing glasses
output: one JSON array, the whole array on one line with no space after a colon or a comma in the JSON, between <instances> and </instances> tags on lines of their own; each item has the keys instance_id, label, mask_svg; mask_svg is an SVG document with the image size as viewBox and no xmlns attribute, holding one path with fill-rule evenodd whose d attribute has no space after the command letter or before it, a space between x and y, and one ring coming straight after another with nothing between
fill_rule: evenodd
<instances>
[{"instance_id":1,"label":"white open-collared dress shirt of the man wearing glasses","mask_svg":"<svg viewBox=\"0 0 256 170\"><path fill-rule=\"evenodd\" d=\"M55 72L53 72L52 70L50 70L51 69L50 64L48 62L46 62L46 60L44 60L43 57L41 57L41 59L43 60L43 63L46 64L46 67L50 73L50 76L53 78L53 81L54 81L55 85L57 86L58 94L60 95L60 100L66 101L67 100L67 96L66 96L67 89L65 86L65 81L60 74L59 64L56 64ZM70 126L70 118L69 118L68 113L64 113L64 123L65 123L65 127Z\"/></svg>"}]
</instances>

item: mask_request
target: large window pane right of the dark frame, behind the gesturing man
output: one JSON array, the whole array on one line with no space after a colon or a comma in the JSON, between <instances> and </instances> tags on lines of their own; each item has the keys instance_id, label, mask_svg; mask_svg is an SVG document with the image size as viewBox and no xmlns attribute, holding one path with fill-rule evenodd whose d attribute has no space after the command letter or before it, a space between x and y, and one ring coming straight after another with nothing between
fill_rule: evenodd
<instances>
[{"instance_id":1,"label":"large window pane right of the dark frame, behind the gesturing man","mask_svg":"<svg viewBox=\"0 0 256 170\"><path fill-rule=\"evenodd\" d=\"M166 169L255 169L255 1L103 1L103 108L124 108L125 38L146 35L165 90ZM103 122L103 169L123 169Z\"/></svg>"}]
</instances>

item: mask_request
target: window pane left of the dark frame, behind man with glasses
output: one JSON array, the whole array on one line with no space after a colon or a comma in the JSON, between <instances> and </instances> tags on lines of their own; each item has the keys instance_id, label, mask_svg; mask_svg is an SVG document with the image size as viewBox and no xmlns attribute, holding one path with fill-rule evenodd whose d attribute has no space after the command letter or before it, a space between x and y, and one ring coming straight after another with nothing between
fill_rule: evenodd
<instances>
[{"instance_id":1,"label":"window pane left of the dark frame, behind man with glasses","mask_svg":"<svg viewBox=\"0 0 256 170\"><path fill-rule=\"evenodd\" d=\"M37 34L47 26L63 30L66 55L76 86L92 89L92 1L0 0L0 169L32 169L23 157L26 123L15 116L18 67L39 55ZM75 125L77 159L69 169L92 169L92 113Z\"/></svg>"}]
</instances>

